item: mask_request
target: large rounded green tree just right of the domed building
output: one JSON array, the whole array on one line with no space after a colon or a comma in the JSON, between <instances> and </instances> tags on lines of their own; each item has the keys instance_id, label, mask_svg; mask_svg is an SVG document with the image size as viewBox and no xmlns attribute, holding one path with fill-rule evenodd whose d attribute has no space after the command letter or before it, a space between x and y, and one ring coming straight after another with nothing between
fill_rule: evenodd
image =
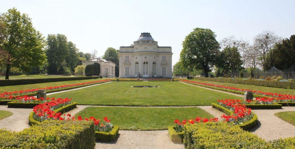
<instances>
[{"instance_id":1,"label":"large rounded green tree just right of the domed building","mask_svg":"<svg viewBox=\"0 0 295 149\"><path fill-rule=\"evenodd\" d=\"M216 64L219 44L216 35L210 29L195 28L182 42L180 61L189 71L201 69L205 77Z\"/></svg>"}]
</instances>

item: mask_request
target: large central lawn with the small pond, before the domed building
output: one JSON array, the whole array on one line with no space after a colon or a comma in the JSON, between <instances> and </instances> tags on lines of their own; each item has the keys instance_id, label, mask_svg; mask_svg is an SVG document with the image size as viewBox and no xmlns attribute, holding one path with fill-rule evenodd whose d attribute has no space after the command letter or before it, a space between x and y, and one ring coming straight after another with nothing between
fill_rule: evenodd
<instances>
[{"instance_id":1,"label":"large central lawn with the small pond, before the domed building","mask_svg":"<svg viewBox=\"0 0 295 149\"><path fill-rule=\"evenodd\" d=\"M131 88L131 86L160 86ZM235 95L202 89L180 82L111 82L85 89L52 94L72 98L82 105L190 106L211 105L217 99L243 99Z\"/></svg>"}]
</instances>

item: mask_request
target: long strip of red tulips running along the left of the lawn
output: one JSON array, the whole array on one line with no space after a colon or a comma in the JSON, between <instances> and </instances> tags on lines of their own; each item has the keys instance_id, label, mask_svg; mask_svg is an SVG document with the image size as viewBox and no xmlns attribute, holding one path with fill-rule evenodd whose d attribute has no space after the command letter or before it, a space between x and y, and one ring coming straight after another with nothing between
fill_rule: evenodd
<instances>
[{"instance_id":1,"label":"long strip of red tulips running along the left of the lawn","mask_svg":"<svg viewBox=\"0 0 295 149\"><path fill-rule=\"evenodd\" d=\"M45 87L39 89L45 89L46 93L52 93L57 91L64 91L69 89L80 88L84 86L90 86L94 84L100 84L111 81L110 79L107 80L99 80L99 81L92 81L92 82L85 82L85 83L78 83L78 84L69 84L63 86L53 86L53 87ZM24 96L35 96L39 89L28 89L28 90L21 90L21 91L13 91L13 92L4 92L0 93L0 100L15 100L16 98L21 98Z\"/></svg>"}]
</instances>

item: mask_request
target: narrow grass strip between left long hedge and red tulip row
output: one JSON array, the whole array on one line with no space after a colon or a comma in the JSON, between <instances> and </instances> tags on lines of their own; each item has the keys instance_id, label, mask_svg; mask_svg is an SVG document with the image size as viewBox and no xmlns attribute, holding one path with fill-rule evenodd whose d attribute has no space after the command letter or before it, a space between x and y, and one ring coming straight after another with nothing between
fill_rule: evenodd
<instances>
[{"instance_id":1,"label":"narrow grass strip between left long hedge and red tulip row","mask_svg":"<svg viewBox=\"0 0 295 149\"><path fill-rule=\"evenodd\" d=\"M37 88L44 88L44 87L50 87L50 86L62 86L62 85L68 85L68 84L77 84L77 83L84 83L84 82L91 82L91 81L105 80L105 79L107 79L107 78L48 82L48 83L37 83L37 84L15 85L15 86L0 86L0 93L26 90L26 89L37 89Z\"/></svg>"}]
</instances>

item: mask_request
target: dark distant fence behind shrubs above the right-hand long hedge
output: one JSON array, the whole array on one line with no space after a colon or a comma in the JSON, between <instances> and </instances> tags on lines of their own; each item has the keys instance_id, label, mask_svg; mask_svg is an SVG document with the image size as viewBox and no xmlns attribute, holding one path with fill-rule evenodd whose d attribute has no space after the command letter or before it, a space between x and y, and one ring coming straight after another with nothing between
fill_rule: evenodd
<instances>
[{"instance_id":1,"label":"dark distant fence behind shrubs above the right-hand long hedge","mask_svg":"<svg viewBox=\"0 0 295 149\"><path fill-rule=\"evenodd\" d=\"M268 76L272 77L274 75L282 76L285 79L295 79L295 71L293 71L293 72L261 72L261 71L260 72L257 72L257 71L255 72L254 71L253 74L254 74L254 78L256 78L256 79L258 79L260 77L263 77L263 78L266 78ZM227 75L229 75L230 77L232 75L239 77L240 73L239 72L233 72L233 73L229 72L229 73L227 73ZM250 77L250 73L247 72L247 71L244 71L243 72L243 77Z\"/></svg>"}]
</instances>

